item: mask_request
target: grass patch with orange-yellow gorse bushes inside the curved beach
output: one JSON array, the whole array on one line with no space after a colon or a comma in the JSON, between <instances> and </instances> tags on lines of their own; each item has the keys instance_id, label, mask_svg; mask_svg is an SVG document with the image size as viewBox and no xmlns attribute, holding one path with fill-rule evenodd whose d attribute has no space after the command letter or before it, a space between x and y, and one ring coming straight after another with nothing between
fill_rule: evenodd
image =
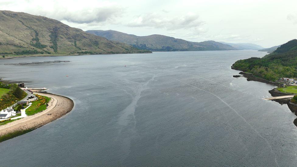
<instances>
[{"instance_id":1,"label":"grass patch with orange-yellow gorse bushes inside the curved beach","mask_svg":"<svg viewBox=\"0 0 297 167\"><path fill-rule=\"evenodd\" d=\"M39 113L40 111L43 111L47 107L47 103L50 101L51 98L46 96L39 96L37 95L38 100L32 102L32 105L27 108L26 114L27 116L34 115L36 113Z\"/></svg>"}]
</instances>

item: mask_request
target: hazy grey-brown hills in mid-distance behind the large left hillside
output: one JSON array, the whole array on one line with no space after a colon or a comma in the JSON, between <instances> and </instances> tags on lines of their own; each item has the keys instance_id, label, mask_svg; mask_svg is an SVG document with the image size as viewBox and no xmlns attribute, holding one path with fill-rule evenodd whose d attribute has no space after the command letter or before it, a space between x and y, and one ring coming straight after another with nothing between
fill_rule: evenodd
<instances>
[{"instance_id":1,"label":"hazy grey-brown hills in mid-distance behind the large left hillside","mask_svg":"<svg viewBox=\"0 0 297 167\"><path fill-rule=\"evenodd\" d=\"M164 35L136 36L114 30L88 30L86 32L151 51L237 50L230 45L215 41L190 42Z\"/></svg>"}]
</instances>

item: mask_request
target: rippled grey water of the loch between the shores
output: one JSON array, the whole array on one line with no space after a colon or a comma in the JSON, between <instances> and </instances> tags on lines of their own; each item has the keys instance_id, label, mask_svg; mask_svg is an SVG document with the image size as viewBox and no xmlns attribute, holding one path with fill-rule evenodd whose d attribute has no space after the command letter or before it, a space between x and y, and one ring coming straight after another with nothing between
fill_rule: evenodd
<instances>
[{"instance_id":1,"label":"rippled grey water of the loch between the shores","mask_svg":"<svg viewBox=\"0 0 297 167\"><path fill-rule=\"evenodd\" d=\"M233 78L255 50L0 60L0 78L73 99L67 115L0 143L0 166L296 166L296 116ZM65 63L5 63L69 60ZM66 77L68 75L68 77Z\"/></svg>"}]
</instances>

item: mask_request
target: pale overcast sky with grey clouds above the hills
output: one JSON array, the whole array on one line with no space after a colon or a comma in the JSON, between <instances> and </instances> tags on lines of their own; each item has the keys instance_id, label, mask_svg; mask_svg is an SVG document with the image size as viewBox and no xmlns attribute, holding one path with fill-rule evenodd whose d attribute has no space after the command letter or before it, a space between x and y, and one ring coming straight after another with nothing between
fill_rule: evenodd
<instances>
[{"instance_id":1,"label":"pale overcast sky with grey clouds above the hills","mask_svg":"<svg viewBox=\"0 0 297 167\"><path fill-rule=\"evenodd\" d=\"M1 10L57 19L82 30L272 47L297 38L296 0L0 0Z\"/></svg>"}]
</instances>

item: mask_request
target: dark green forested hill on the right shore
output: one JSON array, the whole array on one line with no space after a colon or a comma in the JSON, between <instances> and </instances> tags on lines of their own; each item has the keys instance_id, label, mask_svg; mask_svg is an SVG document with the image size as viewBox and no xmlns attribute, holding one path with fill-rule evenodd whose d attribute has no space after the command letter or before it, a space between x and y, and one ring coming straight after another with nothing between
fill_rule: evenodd
<instances>
[{"instance_id":1,"label":"dark green forested hill on the right shore","mask_svg":"<svg viewBox=\"0 0 297 167\"><path fill-rule=\"evenodd\" d=\"M268 81L282 77L297 77L297 40L282 44L271 54L262 58L251 57L239 60L232 66L233 69L251 72Z\"/></svg>"}]
</instances>

